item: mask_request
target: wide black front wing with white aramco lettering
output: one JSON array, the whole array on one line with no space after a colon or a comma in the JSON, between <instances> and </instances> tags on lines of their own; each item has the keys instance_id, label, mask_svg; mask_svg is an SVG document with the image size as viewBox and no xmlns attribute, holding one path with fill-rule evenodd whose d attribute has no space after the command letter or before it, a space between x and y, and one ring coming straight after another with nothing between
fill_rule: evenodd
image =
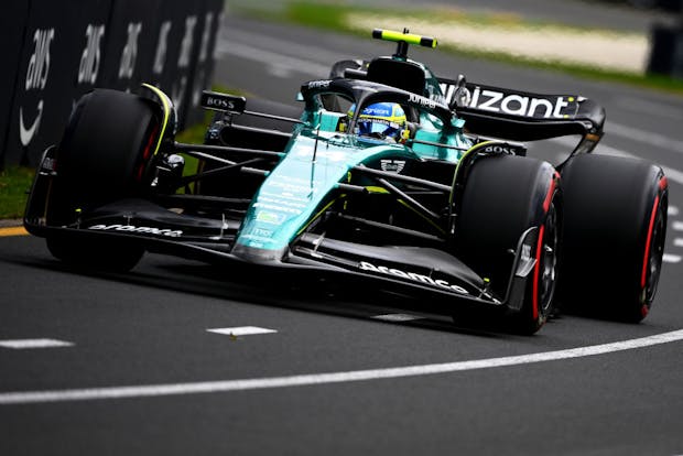
<instances>
[{"instance_id":1,"label":"wide black front wing with white aramco lettering","mask_svg":"<svg viewBox=\"0 0 683 456\"><path fill-rule=\"evenodd\" d=\"M218 267L261 274L277 272L293 280L327 280L362 284L372 290L400 293L398 307L453 315L456 308L519 311L535 260L529 252L536 229L520 238L505 296L495 295L485 279L454 256L433 248L366 246L339 239L303 235L283 260L265 261L231 252L239 222L175 214L147 199L123 199L102 206L67 227L48 226L45 207L50 176L36 176L24 226L39 237L62 236L77 240L117 238L147 251L198 260ZM258 276L258 275L254 275ZM304 282L305 283L305 282Z\"/></svg>"}]
</instances>

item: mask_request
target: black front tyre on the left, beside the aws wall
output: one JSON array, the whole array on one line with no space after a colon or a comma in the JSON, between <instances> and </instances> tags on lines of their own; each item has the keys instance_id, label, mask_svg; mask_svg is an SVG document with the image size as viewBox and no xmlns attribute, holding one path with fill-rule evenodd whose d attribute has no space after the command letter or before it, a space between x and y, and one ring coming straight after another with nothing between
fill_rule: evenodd
<instances>
[{"instance_id":1,"label":"black front tyre on the left, beside the aws wall","mask_svg":"<svg viewBox=\"0 0 683 456\"><path fill-rule=\"evenodd\" d=\"M57 148L47 224L77 224L79 214L143 194L158 134L150 101L109 89L85 95ZM56 234L46 241L54 257L77 267L128 270L143 253L138 243L119 240Z\"/></svg>"}]
</instances>

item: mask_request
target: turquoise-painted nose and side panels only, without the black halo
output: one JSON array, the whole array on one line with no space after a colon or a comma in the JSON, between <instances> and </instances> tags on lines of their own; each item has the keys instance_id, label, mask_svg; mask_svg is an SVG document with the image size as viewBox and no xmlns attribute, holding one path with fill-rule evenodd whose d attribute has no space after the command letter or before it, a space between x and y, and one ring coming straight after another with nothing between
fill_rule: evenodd
<instances>
[{"instance_id":1,"label":"turquoise-painted nose and side panels only, without the black halo","mask_svg":"<svg viewBox=\"0 0 683 456\"><path fill-rule=\"evenodd\" d=\"M412 146L360 138L335 131L340 115L315 113L314 124L301 126L285 150L286 154L270 172L256 193L237 234L236 251L259 250L263 260L280 260L290 242L333 204L342 193L354 166L381 159L444 160L457 162L462 150L415 143ZM454 127L462 132L462 121ZM442 137L441 120L425 115L415 139L459 148L470 145L462 134Z\"/></svg>"}]
</instances>

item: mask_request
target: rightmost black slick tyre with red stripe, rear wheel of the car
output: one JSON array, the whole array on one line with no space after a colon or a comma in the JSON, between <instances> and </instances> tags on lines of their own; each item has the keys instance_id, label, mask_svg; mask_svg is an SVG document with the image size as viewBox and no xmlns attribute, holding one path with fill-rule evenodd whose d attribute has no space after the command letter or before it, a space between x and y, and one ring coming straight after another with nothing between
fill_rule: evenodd
<instances>
[{"instance_id":1,"label":"rightmost black slick tyre with red stripe, rear wheel of the car","mask_svg":"<svg viewBox=\"0 0 683 456\"><path fill-rule=\"evenodd\" d=\"M663 171L638 159L579 155L563 167L562 180L563 307L642 321L662 268L669 200Z\"/></svg>"}]
</instances>

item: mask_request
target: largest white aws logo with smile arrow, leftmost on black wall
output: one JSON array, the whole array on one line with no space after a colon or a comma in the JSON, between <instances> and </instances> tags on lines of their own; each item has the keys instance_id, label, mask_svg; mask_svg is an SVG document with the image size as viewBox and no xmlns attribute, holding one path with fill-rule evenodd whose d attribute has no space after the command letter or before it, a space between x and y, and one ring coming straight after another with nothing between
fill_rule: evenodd
<instances>
[{"instance_id":1,"label":"largest white aws logo with smile arrow, leftmost on black wall","mask_svg":"<svg viewBox=\"0 0 683 456\"><path fill-rule=\"evenodd\" d=\"M37 29L33 33L33 53L29 58L29 68L26 68L26 79L24 88L29 90L44 90L47 85L47 76L50 75L51 55L50 46L55 39L54 29ZM31 123L24 120L24 109L19 107L19 139L21 145L26 148L41 126L43 117L43 100L37 102L37 115ZM28 126L28 127L26 127Z\"/></svg>"}]
</instances>

